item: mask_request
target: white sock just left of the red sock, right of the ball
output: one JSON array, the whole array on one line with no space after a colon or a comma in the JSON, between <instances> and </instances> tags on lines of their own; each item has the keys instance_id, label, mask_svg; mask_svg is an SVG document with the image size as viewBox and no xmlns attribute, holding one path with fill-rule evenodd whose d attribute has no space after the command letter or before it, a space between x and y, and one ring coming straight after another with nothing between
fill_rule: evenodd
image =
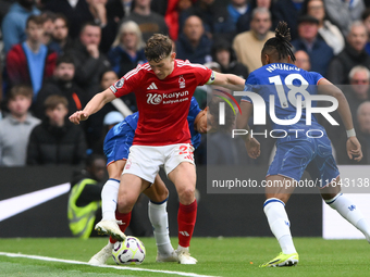
<instances>
[{"instance_id":1,"label":"white sock just left of the red sock, right of the ball","mask_svg":"<svg viewBox=\"0 0 370 277\"><path fill-rule=\"evenodd\" d=\"M149 219L153 227L158 252L162 255L172 253L173 248L170 241L169 215L166 213L166 201L153 203L149 201Z\"/></svg>"}]
</instances>

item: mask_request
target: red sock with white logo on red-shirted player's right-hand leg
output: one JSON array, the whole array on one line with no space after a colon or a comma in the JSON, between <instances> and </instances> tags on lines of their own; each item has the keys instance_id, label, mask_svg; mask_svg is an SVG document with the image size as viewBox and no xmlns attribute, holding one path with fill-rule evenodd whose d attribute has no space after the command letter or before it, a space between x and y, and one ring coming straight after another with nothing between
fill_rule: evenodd
<instances>
[{"instance_id":1,"label":"red sock with white logo on red-shirted player's right-hand leg","mask_svg":"<svg viewBox=\"0 0 370 277\"><path fill-rule=\"evenodd\" d=\"M189 205L180 203L177 224L178 224L178 245L187 248L190 245L195 222L197 219L197 200Z\"/></svg>"}]
</instances>

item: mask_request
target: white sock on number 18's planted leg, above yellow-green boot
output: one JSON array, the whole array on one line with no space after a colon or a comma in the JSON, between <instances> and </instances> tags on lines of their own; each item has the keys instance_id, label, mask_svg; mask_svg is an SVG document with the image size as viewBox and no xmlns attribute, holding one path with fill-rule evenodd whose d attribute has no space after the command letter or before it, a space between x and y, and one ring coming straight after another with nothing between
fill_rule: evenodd
<instances>
[{"instance_id":1,"label":"white sock on number 18's planted leg, above yellow-green boot","mask_svg":"<svg viewBox=\"0 0 370 277\"><path fill-rule=\"evenodd\" d=\"M270 198L264 201L263 211L268 217L270 229L282 248L282 252L284 254L296 253L284 202L276 198Z\"/></svg>"}]
</instances>

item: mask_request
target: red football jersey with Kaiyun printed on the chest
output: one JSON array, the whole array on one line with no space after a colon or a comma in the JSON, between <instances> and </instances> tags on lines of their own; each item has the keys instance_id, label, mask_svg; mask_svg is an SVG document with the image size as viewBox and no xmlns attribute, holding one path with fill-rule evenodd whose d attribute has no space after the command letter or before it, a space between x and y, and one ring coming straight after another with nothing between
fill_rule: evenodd
<instances>
[{"instance_id":1,"label":"red football jersey with Kaiyun printed on the chest","mask_svg":"<svg viewBox=\"0 0 370 277\"><path fill-rule=\"evenodd\" d=\"M190 143L187 124L197 86L213 79L212 71L189 61L175 60L173 72L159 79L148 63L138 65L110 87L115 97L135 92L139 119L133 144Z\"/></svg>"}]
</instances>

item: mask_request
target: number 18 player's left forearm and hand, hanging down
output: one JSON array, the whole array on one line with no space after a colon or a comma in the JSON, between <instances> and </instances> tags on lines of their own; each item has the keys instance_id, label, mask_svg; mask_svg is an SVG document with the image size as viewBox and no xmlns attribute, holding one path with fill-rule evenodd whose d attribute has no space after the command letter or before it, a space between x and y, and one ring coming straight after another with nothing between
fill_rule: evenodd
<instances>
[{"instance_id":1,"label":"number 18 player's left forearm and hand, hanging down","mask_svg":"<svg viewBox=\"0 0 370 277\"><path fill-rule=\"evenodd\" d=\"M257 159L261 153L260 143L258 142L256 138L252 138L250 136L250 133L249 133L250 128L248 126L248 121L249 121L249 117L252 111L252 104L247 101L242 101L240 110L242 110L242 114L238 114L236 117L236 128L248 130L248 134L243 136L242 138L245 141L245 147L247 149L248 155L251 159Z\"/></svg>"}]
</instances>

